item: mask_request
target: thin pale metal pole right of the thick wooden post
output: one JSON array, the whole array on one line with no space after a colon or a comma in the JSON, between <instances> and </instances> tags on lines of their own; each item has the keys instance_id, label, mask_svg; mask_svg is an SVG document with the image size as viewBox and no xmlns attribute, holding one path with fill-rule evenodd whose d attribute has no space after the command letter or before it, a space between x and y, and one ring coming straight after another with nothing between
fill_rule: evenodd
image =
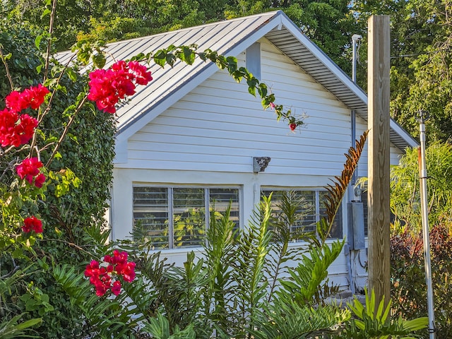
<instances>
[{"instance_id":1,"label":"thin pale metal pole right of the thick wooden post","mask_svg":"<svg viewBox=\"0 0 452 339\"><path fill-rule=\"evenodd\" d=\"M419 129L420 129L420 193L422 209L422 236L424 239L424 263L425 263L425 282L427 283L427 311L429 314L429 339L435 339L435 315L432 287L432 264L430 262L430 235L429 235L429 214L427 210L427 166L425 165L425 121L428 119L428 113L419 111Z\"/></svg>"}]
</instances>

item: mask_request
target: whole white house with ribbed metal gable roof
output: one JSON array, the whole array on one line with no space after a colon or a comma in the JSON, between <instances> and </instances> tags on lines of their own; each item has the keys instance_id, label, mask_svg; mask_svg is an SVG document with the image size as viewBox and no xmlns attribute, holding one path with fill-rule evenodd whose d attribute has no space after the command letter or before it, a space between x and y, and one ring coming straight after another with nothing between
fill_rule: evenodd
<instances>
[{"instance_id":1,"label":"whole white house with ribbed metal gable roof","mask_svg":"<svg viewBox=\"0 0 452 339\"><path fill-rule=\"evenodd\" d=\"M208 208L213 201L222 208L232 201L235 220L246 227L262 192L273 190L300 191L314 208L311 221L319 218L323 186L343 169L343 154L354 144L352 135L367 129L363 90L282 11L115 42L108 44L107 53L116 60L127 59L170 44L197 44L200 50L237 57L269 86L275 103L306 114L306 126L290 132L249 95L246 84L237 84L212 63L152 66L154 80L138 88L117 111L112 237L130 237L133 225L147 227L156 248L170 261L182 262L186 251L201 248L198 231L208 224L208 218L194 210ZM357 114L355 126L352 111ZM391 120L391 164L398 163L407 146L415 145ZM255 157L270 157L264 172L255 172ZM367 152L358 175L367 177ZM335 236L350 239L347 202L338 215ZM182 239L179 228L189 224L191 236L185 231ZM351 282L362 285L365 279L361 266L366 251L363 246L357 249L346 246L330 270L343 287Z\"/></svg>"}]
</instances>

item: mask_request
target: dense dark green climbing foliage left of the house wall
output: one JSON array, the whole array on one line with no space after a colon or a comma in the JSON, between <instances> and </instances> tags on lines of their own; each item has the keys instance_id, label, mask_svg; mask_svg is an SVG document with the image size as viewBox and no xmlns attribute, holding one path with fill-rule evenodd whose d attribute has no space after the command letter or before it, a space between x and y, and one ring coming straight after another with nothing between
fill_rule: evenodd
<instances>
[{"instance_id":1,"label":"dense dark green climbing foliage left of the house wall","mask_svg":"<svg viewBox=\"0 0 452 339\"><path fill-rule=\"evenodd\" d=\"M4 52L1 64L8 66L14 88L23 89L44 81L42 55L47 49L47 38L46 33L31 30L30 25L14 16L1 18L0 47ZM17 316L20 321L42 316L42 321L34 323L35 333L48 338L83 336L78 311L55 283L52 265L48 263L88 261L86 249L92 245L84 242L84 229L104 223L114 156L114 117L95 113L90 107L74 116L74 110L67 108L73 107L85 91L85 79L76 71L69 71L67 76L64 71L64 67L53 64L47 73L48 85L56 90L52 114L45 114L49 111L44 109L37 112L42 122L34 147L2 150L0 160L0 276L16 267L26 273L14 283L11 293L4 295L6 304L16 305L5 321L18 319ZM12 90L6 67L0 68L0 77L4 79L0 82L0 97L5 97ZM75 121L71 126L69 119ZM61 133L68 138L59 144ZM13 172L18 160L39 150L41 160L46 162L58 144L42 189L19 186ZM41 234L27 236L21 232L25 215L43 220L44 238ZM30 267L30 261L36 265Z\"/></svg>"}]
</instances>

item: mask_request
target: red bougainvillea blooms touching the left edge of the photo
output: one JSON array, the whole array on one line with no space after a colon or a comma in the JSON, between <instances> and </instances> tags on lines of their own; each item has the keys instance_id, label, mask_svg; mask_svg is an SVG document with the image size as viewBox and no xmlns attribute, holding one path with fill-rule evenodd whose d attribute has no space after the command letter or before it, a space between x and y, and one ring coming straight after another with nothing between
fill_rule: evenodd
<instances>
[{"instance_id":1,"label":"red bougainvillea blooms touching the left edge of the photo","mask_svg":"<svg viewBox=\"0 0 452 339\"><path fill-rule=\"evenodd\" d=\"M0 111L0 145L1 147L19 147L30 141L37 126L37 120L28 114L20 114L23 109L37 109L44 102L49 90L37 85L23 90L13 91L5 98L6 108Z\"/></svg>"}]
</instances>

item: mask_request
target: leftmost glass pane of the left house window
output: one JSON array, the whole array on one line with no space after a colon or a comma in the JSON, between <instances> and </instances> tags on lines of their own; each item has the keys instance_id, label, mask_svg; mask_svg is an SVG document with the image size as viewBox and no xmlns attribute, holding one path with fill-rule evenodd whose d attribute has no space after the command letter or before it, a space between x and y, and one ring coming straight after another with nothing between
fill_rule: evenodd
<instances>
[{"instance_id":1,"label":"leftmost glass pane of the left house window","mask_svg":"<svg viewBox=\"0 0 452 339\"><path fill-rule=\"evenodd\" d=\"M168 247L168 189L133 187L133 239Z\"/></svg>"}]
</instances>

